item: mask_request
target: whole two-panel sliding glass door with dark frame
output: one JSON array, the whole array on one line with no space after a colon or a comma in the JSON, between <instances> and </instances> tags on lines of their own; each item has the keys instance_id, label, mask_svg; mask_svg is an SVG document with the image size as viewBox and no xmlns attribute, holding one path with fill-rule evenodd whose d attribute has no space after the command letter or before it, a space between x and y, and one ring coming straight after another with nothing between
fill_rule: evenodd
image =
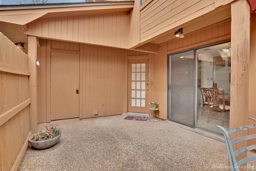
<instances>
[{"instance_id":1,"label":"whole two-panel sliding glass door with dark frame","mask_svg":"<svg viewBox=\"0 0 256 171\"><path fill-rule=\"evenodd\" d=\"M217 134L221 131L216 125L229 128L230 52L227 42L168 56L169 120ZM212 109L212 102L208 105L206 89L221 90L219 111Z\"/></svg>"}]
</instances>

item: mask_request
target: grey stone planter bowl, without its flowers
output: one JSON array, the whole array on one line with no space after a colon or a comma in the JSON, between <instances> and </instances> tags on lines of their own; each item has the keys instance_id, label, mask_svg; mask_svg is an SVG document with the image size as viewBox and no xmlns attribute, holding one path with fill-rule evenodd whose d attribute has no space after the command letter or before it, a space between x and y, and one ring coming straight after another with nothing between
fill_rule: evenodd
<instances>
[{"instance_id":1,"label":"grey stone planter bowl, without its flowers","mask_svg":"<svg viewBox=\"0 0 256 171\"><path fill-rule=\"evenodd\" d=\"M36 149L47 149L49 147L54 146L56 143L58 143L58 141L60 139L60 135L58 135L52 139L48 139L48 140L44 140L44 141L32 141L31 137L30 137L28 139L28 141L32 145L32 147L34 147Z\"/></svg>"}]
</instances>

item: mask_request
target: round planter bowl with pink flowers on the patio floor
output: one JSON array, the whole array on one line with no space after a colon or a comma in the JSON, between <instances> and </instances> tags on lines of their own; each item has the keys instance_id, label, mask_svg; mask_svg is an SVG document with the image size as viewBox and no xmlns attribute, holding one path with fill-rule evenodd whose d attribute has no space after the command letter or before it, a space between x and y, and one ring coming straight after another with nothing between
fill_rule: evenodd
<instances>
[{"instance_id":1,"label":"round planter bowl with pink flowers on the patio floor","mask_svg":"<svg viewBox=\"0 0 256 171\"><path fill-rule=\"evenodd\" d=\"M61 133L58 124L50 125L50 127L46 125L44 128L46 128L46 130L41 128L39 133L33 134L28 139L32 147L36 149L46 149L52 147L59 141Z\"/></svg>"}]
</instances>

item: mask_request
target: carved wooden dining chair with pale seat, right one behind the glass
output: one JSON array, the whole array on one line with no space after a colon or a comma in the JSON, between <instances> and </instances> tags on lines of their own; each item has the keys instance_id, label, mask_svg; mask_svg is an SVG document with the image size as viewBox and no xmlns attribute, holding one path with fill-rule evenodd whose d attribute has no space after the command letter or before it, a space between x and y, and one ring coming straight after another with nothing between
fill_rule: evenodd
<instances>
[{"instance_id":1,"label":"carved wooden dining chair with pale seat, right one behind the glass","mask_svg":"<svg viewBox=\"0 0 256 171\"><path fill-rule=\"evenodd\" d=\"M211 117L213 119L221 120L221 126L223 126L224 120L229 121L229 119L225 117L226 111L230 111L230 105L225 104L224 90L206 89L206 92L208 101L207 123L209 123ZM210 104L210 100L212 100L212 104ZM222 112L222 115L220 116L218 113L210 114L210 111Z\"/></svg>"}]
</instances>

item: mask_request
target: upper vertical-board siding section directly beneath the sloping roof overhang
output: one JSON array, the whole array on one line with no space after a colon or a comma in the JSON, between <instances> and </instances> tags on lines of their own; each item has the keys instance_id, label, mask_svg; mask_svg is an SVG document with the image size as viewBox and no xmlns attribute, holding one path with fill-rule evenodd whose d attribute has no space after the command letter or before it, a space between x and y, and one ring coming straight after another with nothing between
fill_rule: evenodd
<instances>
[{"instance_id":1,"label":"upper vertical-board siding section directly beneath the sloping roof overhang","mask_svg":"<svg viewBox=\"0 0 256 171\"><path fill-rule=\"evenodd\" d=\"M27 25L25 34L117 48L128 48L127 13L56 20L34 21Z\"/></svg>"}]
</instances>

